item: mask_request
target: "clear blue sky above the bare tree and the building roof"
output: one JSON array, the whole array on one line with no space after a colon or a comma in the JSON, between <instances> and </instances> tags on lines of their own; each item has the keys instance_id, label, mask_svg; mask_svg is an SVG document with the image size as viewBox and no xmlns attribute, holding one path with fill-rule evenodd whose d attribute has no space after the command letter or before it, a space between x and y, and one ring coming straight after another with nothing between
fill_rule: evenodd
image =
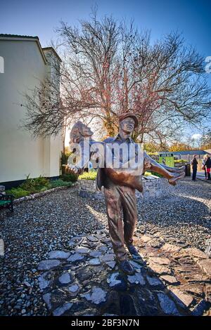
<instances>
[{"instance_id":1,"label":"clear blue sky above the bare tree and the building roof","mask_svg":"<svg viewBox=\"0 0 211 330\"><path fill-rule=\"evenodd\" d=\"M77 25L89 18L94 4L99 15L133 18L139 29L151 29L153 40L178 30L186 44L204 58L211 56L210 0L7 0L0 2L0 33L38 36L41 46L48 46L61 20ZM211 74L208 79L211 86Z\"/></svg>"}]
</instances>

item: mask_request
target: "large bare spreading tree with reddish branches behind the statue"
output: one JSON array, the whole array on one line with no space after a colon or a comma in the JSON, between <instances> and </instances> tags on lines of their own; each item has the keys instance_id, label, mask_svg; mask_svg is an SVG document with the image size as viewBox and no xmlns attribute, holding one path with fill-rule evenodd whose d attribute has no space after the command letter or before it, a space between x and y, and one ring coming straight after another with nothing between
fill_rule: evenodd
<instances>
[{"instance_id":1,"label":"large bare spreading tree with reddish branches behind the statue","mask_svg":"<svg viewBox=\"0 0 211 330\"><path fill-rule=\"evenodd\" d=\"M57 134L76 119L113 136L117 116L132 108L139 117L134 138L162 145L209 114L203 58L178 33L152 44L133 22L127 27L112 17L98 20L96 12L79 27L62 22L58 33L64 49L59 100L52 105L53 86L49 93L41 86L38 100L29 96L25 104L25 127L35 136Z\"/></svg>"}]
</instances>

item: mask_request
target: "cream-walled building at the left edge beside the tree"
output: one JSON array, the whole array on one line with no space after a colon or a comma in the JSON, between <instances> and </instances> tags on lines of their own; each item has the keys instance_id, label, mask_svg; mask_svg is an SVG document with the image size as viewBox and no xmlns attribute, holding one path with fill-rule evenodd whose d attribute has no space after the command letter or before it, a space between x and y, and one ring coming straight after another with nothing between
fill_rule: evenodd
<instances>
[{"instance_id":1,"label":"cream-walled building at the left edge beside the tree","mask_svg":"<svg viewBox=\"0 0 211 330\"><path fill-rule=\"evenodd\" d=\"M25 107L20 107L25 104L25 93L46 78L56 81L59 91L51 60L58 66L61 60L53 48L41 48L38 37L11 34L0 34L0 57L4 59L0 71L0 184L18 185L28 174L30 178L57 177L62 136L33 139L19 127L25 118Z\"/></svg>"}]
</instances>

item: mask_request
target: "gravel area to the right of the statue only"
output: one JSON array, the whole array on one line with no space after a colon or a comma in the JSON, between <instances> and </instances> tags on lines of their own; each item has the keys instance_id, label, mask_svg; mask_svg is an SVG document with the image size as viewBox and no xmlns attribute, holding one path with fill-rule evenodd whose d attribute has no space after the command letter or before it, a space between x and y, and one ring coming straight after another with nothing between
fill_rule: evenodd
<instances>
[{"instance_id":1,"label":"gravel area to the right of the statue only","mask_svg":"<svg viewBox=\"0 0 211 330\"><path fill-rule=\"evenodd\" d=\"M176 187L162 180L165 196L157 201L139 202L139 228L158 233L172 244L179 242L205 251L211 237L211 185L190 178Z\"/></svg>"}]
</instances>

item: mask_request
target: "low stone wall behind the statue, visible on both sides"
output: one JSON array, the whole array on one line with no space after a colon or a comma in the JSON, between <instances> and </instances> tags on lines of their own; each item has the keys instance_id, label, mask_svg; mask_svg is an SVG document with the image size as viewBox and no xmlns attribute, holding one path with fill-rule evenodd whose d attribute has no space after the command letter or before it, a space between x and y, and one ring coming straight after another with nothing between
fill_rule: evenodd
<instances>
[{"instance_id":1,"label":"low stone wall behind the statue, visible on both sides","mask_svg":"<svg viewBox=\"0 0 211 330\"><path fill-rule=\"evenodd\" d=\"M162 196L163 190L161 180L155 176L142 177L143 193L136 191L137 198L154 199ZM95 180L78 180L79 195L81 197L91 197L94 199L103 199L102 192L96 190Z\"/></svg>"}]
</instances>

